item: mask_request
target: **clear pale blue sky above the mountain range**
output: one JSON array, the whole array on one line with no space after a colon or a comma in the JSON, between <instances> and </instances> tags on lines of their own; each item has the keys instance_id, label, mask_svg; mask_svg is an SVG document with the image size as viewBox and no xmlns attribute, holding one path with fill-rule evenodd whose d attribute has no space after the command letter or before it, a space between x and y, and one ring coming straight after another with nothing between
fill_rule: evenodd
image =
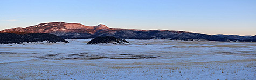
<instances>
[{"instance_id":1,"label":"clear pale blue sky above the mountain range","mask_svg":"<svg viewBox=\"0 0 256 80\"><path fill-rule=\"evenodd\" d=\"M256 35L256 0L0 0L0 30L59 21Z\"/></svg>"}]
</instances>

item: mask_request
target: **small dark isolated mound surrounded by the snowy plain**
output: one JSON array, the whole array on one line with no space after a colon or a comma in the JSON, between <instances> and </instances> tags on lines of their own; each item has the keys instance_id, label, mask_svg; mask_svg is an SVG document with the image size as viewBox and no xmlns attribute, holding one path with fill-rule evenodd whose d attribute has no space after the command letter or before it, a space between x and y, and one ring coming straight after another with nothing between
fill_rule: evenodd
<instances>
[{"instance_id":1,"label":"small dark isolated mound surrounded by the snowy plain","mask_svg":"<svg viewBox=\"0 0 256 80\"><path fill-rule=\"evenodd\" d=\"M89 41L87 44L99 44L99 43L128 44L129 42L127 42L125 39L106 36L106 37L96 37L91 41Z\"/></svg>"}]
</instances>

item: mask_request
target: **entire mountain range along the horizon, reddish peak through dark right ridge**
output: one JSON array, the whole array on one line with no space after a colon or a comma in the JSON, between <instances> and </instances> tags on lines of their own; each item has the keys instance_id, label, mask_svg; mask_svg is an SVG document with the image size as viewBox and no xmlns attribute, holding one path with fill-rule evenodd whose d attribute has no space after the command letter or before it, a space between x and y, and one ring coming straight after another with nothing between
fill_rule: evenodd
<instances>
[{"instance_id":1,"label":"entire mountain range along the horizon, reddish peak through dark right ridge","mask_svg":"<svg viewBox=\"0 0 256 80\"><path fill-rule=\"evenodd\" d=\"M200 33L191 33L186 31L170 31L170 30L134 30L134 29L117 29L109 28L106 25L85 26L80 23L50 22L41 23L26 28L6 29L0 32L29 32L29 33L50 33L61 38L71 39L87 39L99 36L113 36L126 39L205 39L209 41L243 41L245 39L239 37L224 37L220 35L206 35ZM246 38L248 41L252 40Z\"/></svg>"}]
</instances>

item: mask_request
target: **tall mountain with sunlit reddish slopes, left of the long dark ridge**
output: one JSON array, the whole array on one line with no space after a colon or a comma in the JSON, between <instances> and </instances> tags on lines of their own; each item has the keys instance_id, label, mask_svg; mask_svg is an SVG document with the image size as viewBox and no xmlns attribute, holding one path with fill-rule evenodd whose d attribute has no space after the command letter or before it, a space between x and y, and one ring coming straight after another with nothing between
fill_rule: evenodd
<instances>
[{"instance_id":1,"label":"tall mountain with sunlit reddish slopes, left of the long dark ridge","mask_svg":"<svg viewBox=\"0 0 256 80\"><path fill-rule=\"evenodd\" d=\"M51 22L26 28L6 29L0 32L50 33L63 38L93 38L96 32L109 29L106 25L85 26L79 23Z\"/></svg>"}]
</instances>

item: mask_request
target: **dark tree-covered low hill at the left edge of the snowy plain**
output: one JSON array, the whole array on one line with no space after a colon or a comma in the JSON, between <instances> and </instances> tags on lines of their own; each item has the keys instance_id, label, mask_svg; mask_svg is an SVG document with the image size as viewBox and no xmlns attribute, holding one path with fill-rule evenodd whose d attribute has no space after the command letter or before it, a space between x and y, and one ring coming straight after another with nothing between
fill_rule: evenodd
<instances>
[{"instance_id":1,"label":"dark tree-covered low hill at the left edge of the snowy plain","mask_svg":"<svg viewBox=\"0 0 256 80\"><path fill-rule=\"evenodd\" d=\"M60 38L53 34L48 33L0 33L0 44L8 44L8 43L23 43L23 42L65 42L63 38Z\"/></svg>"}]
</instances>

